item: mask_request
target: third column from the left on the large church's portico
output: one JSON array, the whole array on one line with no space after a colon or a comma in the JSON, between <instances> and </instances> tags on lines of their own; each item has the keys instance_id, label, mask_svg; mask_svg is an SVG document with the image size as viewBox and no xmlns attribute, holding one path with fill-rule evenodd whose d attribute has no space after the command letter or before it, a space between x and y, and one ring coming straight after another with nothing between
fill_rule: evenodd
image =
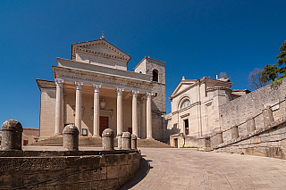
<instances>
[{"instance_id":1,"label":"third column from the left on the large church's portico","mask_svg":"<svg viewBox=\"0 0 286 190\"><path fill-rule=\"evenodd\" d=\"M93 85L94 101L93 101L93 136L99 134L99 89L101 85Z\"/></svg>"}]
</instances>

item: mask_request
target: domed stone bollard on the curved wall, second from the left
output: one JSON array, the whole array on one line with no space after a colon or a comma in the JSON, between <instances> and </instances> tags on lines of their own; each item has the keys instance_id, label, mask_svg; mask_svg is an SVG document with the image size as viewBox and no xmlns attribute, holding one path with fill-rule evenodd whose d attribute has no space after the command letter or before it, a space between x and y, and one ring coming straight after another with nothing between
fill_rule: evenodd
<instances>
[{"instance_id":1,"label":"domed stone bollard on the curved wall, second from the left","mask_svg":"<svg viewBox=\"0 0 286 190\"><path fill-rule=\"evenodd\" d=\"M79 150L79 128L74 124L63 128L63 151Z\"/></svg>"}]
</instances>

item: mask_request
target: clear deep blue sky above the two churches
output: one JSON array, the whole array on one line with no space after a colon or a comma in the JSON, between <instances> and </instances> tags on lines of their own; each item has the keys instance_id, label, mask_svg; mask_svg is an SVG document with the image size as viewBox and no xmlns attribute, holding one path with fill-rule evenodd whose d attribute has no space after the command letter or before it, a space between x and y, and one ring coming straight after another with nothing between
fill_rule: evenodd
<instances>
[{"instance_id":1,"label":"clear deep blue sky above the two churches","mask_svg":"<svg viewBox=\"0 0 286 190\"><path fill-rule=\"evenodd\" d=\"M286 1L0 0L0 123L38 128L36 78L54 80L55 58L71 44L105 39L131 56L147 51L166 62L166 96L181 81L224 71L232 89L248 88L248 73L276 62L286 40ZM170 102L167 100L167 112Z\"/></svg>"}]
</instances>

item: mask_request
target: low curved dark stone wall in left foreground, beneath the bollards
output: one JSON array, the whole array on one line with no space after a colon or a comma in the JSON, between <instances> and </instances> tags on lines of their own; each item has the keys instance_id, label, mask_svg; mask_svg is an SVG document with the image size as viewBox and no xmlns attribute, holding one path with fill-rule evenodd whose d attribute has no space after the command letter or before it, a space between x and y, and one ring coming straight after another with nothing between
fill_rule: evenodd
<instances>
[{"instance_id":1,"label":"low curved dark stone wall in left foreground, beneath the bollards","mask_svg":"<svg viewBox=\"0 0 286 190\"><path fill-rule=\"evenodd\" d=\"M38 189L118 189L139 169L138 151L1 151L0 186Z\"/></svg>"}]
</instances>

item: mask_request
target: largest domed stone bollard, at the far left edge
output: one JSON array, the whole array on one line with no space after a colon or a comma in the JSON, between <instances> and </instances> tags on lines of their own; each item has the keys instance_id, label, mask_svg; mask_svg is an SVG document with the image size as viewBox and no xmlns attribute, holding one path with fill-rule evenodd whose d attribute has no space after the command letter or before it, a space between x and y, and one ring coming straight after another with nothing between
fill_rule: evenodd
<instances>
[{"instance_id":1,"label":"largest domed stone bollard, at the far left edge","mask_svg":"<svg viewBox=\"0 0 286 190\"><path fill-rule=\"evenodd\" d=\"M2 125L2 150L21 150L21 133L23 128L18 120L6 120Z\"/></svg>"}]
</instances>

